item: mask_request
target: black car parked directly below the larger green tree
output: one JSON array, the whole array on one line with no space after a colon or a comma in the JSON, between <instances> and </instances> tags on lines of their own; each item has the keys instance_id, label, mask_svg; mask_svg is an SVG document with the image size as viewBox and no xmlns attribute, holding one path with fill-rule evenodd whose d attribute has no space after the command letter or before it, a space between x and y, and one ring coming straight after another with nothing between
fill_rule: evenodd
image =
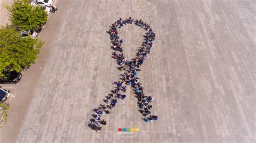
<instances>
[{"instance_id":1,"label":"black car parked directly below the larger green tree","mask_svg":"<svg viewBox=\"0 0 256 143\"><path fill-rule=\"evenodd\" d=\"M21 80L22 74L17 71L4 71L3 74L6 78L0 78L0 82L17 83Z\"/></svg>"}]
</instances>

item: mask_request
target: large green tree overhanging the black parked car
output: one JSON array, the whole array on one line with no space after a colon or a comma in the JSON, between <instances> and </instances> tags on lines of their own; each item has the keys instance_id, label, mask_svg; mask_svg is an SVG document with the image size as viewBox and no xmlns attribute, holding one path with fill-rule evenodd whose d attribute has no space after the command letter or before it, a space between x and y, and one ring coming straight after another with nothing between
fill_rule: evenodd
<instances>
[{"instance_id":1,"label":"large green tree overhanging the black parked car","mask_svg":"<svg viewBox=\"0 0 256 143\"><path fill-rule=\"evenodd\" d=\"M0 77L4 77L2 71L22 69L31 66L35 62L39 49L43 42L30 36L21 38L21 32L15 31L8 25L0 28Z\"/></svg>"}]
</instances>

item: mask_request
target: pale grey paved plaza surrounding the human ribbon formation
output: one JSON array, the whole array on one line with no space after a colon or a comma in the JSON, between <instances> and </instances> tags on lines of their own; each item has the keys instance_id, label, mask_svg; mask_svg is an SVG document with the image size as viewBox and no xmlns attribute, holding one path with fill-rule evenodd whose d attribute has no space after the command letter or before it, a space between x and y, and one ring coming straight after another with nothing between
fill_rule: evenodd
<instances>
[{"instance_id":1,"label":"pale grey paved plaza surrounding the human ribbon formation","mask_svg":"<svg viewBox=\"0 0 256 143\"><path fill-rule=\"evenodd\" d=\"M50 19L42 32L50 51L17 142L256 142L255 4L58 1L51 18L59 23ZM126 98L104 115L107 125L96 133L85 123L121 74L106 31L130 16L156 33L138 75L159 120L142 120L127 87ZM144 32L135 25L119 31L126 58L134 57ZM55 37L45 40L47 34ZM139 132L118 134L118 128Z\"/></svg>"}]
</instances>

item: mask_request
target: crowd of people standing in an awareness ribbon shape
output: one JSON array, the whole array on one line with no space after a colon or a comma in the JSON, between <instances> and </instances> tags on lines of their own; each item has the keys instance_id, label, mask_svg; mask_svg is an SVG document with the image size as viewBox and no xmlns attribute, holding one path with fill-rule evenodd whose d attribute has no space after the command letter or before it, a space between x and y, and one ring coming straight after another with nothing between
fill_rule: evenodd
<instances>
[{"instance_id":1,"label":"crowd of people standing in an awareness ribbon shape","mask_svg":"<svg viewBox=\"0 0 256 143\"><path fill-rule=\"evenodd\" d=\"M122 47L123 40L119 39L117 31L118 28L121 28L126 24L135 24L146 30L146 33L144 34L145 41L143 42L142 46L139 47L139 50L136 53L136 57L133 58L131 61L128 61L124 57L124 51ZM120 74L120 81L113 83L116 84L116 88L112 90L111 94L106 96L106 99L103 100L106 104L100 104L100 106L96 109L96 120L93 121L93 123L99 126L99 120L99 123L106 125L106 121L102 119L102 116L105 115L105 113L110 113L110 110L114 108L114 106L116 106L117 100L119 98L125 99L125 92L127 88L126 85L131 85L131 87L133 88L134 94L136 94L136 97L138 98L137 104L140 109L139 111L144 116L144 120L147 122L152 120L158 120L157 116L151 114L152 105L150 105L149 103L153 101L153 97L145 95L144 87L142 83L139 82L139 77L137 74L137 72L140 71L139 68L142 66L145 58L151 51L152 44L156 35L152 31L149 24L144 23L142 19L134 20L131 17L125 20L122 20L122 18L118 19L117 22L114 22L112 24L108 33L110 34L110 39L113 45L111 46L111 48L114 50L114 52L112 53L112 58L116 59L117 64L120 66L120 69L124 70L124 74Z\"/></svg>"}]
</instances>

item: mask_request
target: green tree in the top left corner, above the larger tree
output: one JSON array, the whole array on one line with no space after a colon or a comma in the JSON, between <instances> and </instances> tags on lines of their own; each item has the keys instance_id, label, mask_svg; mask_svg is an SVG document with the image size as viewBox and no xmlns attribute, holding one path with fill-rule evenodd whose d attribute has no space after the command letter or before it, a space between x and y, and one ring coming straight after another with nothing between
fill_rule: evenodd
<instances>
[{"instance_id":1,"label":"green tree in the top left corner, above the larger tree","mask_svg":"<svg viewBox=\"0 0 256 143\"><path fill-rule=\"evenodd\" d=\"M19 30L35 30L43 26L48 18L42 6L32 6L29 0L18 0L11 6L6 6L10 21Z\"/></svg>"}]
</instances>

